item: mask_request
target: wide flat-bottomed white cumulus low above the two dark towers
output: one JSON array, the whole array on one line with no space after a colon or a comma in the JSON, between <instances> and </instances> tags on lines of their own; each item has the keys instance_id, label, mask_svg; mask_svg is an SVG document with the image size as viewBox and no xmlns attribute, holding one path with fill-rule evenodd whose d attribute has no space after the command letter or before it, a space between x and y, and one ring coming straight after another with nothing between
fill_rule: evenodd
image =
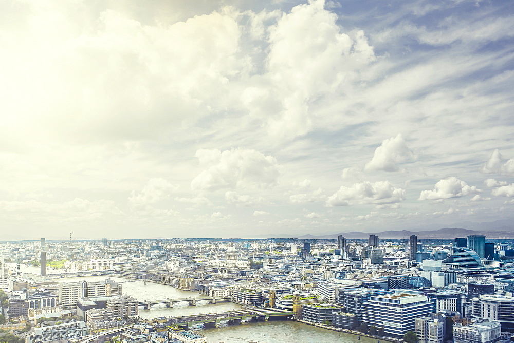
<instances>
[{"instance_id":1,"label":"wide flat-bottomed white cumulus low above the two dark towers","mask_svg":"<svg viewBox=\"0 0 514 343\"><path fill-rule=\"evenodd\" d=\"M327 206L357 204L390 204L405 200L405 189L394 187L389 181L364 181L341 188L328 198Z\"/></svg>"}]
</instances>

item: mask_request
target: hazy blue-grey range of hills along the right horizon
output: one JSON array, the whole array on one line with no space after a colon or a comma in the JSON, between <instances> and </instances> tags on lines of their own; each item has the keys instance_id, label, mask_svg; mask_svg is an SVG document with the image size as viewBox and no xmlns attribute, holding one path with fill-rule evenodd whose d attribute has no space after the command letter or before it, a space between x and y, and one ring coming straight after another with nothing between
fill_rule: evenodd
<instances>
[{"instance_id":1,"label":"hazy blue-grey range of hills along the right horizon","mask_svg":"<svg viewBox=\"0 0 514 343\"><path fill-rule=\"evenodd\" d=\"M382 231L376 233L364 233L358 231L352 232L341 232L333 235L324 235L324 236L313 236L313 235L304 235L297 238L302 239L327 239L327 238L337 238L337 236L341 235L346 237L347 239L366 239L369 238L371 234L377 235L379 239L408 239L411 235L416 235L418 239L453 239L456 237L466 237L468 235L485 235L486 239L510 239L514 238L514 232L512 230L505 231L475 231L468 230L467 228L453 228L453 227L445 227L440 228L439 230L427 230L427 231L409 231L409 230L401 230L401 231Z\"/></svg>"}]
</instances>

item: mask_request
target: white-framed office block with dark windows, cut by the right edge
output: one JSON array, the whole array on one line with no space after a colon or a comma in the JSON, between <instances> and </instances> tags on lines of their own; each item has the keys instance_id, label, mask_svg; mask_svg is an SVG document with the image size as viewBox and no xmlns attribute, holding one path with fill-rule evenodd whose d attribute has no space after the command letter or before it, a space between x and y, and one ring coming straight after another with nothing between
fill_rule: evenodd
<instances>
[{"instance_id":1,"label":"white-framed office block with dark windows, cut by the right edge","mask_svg":"<svg viewBox=\"0 0 514 343\"><path fill-rule=\"evenodd\" d=\"M514 297L484 294L473 298L471 303L473 318L497 320L502 332L514 333Z\"/></svg>"}]
</instances>

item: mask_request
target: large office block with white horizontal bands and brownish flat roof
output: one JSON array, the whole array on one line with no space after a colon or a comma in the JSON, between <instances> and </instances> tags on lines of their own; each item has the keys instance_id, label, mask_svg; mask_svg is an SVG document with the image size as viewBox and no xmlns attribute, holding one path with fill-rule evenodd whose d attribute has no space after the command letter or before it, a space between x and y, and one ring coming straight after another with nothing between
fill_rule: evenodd
<instances>
[{"instance_id":1,"label":"large office block with white horizontal bands and brownish flat roof","mask_svg":"<svg viewBox=\"0 0 514 343\"><path fill-rule=\"evenodd\" d=\"M363 303L363 320L368 325L383 327L386 335L402 338L415 330L415 318L434 312L434 303L425 295L394 293L372 296Z\"/></svg>"}]
</instances>

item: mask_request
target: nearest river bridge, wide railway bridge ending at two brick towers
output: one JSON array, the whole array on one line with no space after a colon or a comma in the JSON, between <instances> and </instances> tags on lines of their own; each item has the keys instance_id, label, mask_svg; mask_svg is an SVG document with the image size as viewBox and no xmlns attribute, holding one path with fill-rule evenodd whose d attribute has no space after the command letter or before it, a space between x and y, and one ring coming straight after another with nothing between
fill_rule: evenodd
<instances>
[{"instance_id":1,"label":"nearest river bridge, wide railway bridge ending at two brick towers","mask_svg":"<svg viewBox=\"0 0 514 343\"><path fill-rule=\"evenodd\" d=\"M292 317L293 313L278 308L265 308L254 310L231 311L223 313L209 313L195 316L170 317L168 325L178 326L184 330L189 330L193 325L202 324L206 327L216 327L221 321L229 323L241 323L247 319L267 321L270 317Z\"/></svg>"}]
</instances>

